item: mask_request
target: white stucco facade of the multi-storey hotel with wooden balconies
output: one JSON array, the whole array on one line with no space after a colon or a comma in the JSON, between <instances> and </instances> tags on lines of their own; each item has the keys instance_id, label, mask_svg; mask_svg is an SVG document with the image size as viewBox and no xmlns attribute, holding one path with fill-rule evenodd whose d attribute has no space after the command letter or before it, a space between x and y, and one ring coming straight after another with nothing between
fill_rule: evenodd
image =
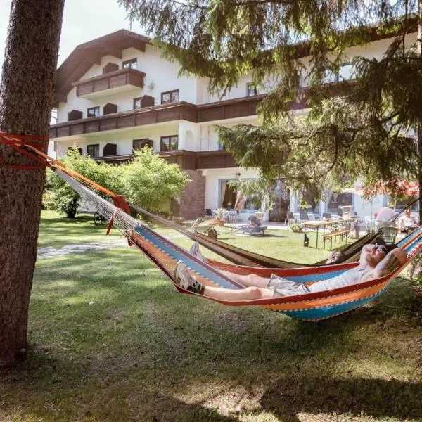
<instances>
[{"instance_id":1,"label":"white stucco facade of the multi-storey hotel with wooden balconies","mask_svg":"<svg viewBox=\"0 0 422 422\"><path fill-rule=\"evenodd\" d=\"M414 41L414 36L409 36L409 41ZM95 40L94 40L95 41ZM350 79L351 66L347 64L355 56L364 56L366 58L381 58L385 49L390 44L390 39L382 39L374 41L367 46L355 46L347 50L345 54L345 65L340 68L340 77ZM89 120L98 120L98 116L87 118L87 110L89 108L99 107L99 117L103 118L103 108L106 104L113 104L117 106L117 113L107 115L107 118L122 118L125 113L128 115L134 114L134 98L149 96L154 98L154 106L146 108L148 113L158 113L155 109L160 108L162 102L162 93L168 91L177 91L178 100L175 104L183 105L186 103L191 109L197 108L197 118L174 118L169 121L151 122L148 124L129 125L128 127L116 127L113 129L98 129L87 130L84 129L82 133L72 134L72 129L68 133L60 134L53 137L54 143L51 143L49 151L56 157L65 155L68 148L72 145L77 145L82 149L82 153L87 153L87 146L98 145L98 158L103 156L103 148L108 144L115 144L117 147L116 156L131 155L133 148L133 141L136 139L148 139L153 143L155 152L162 151L161 139L162 137L173 136L177 137L177 151L188 151L193 153L201 153L206 151L222 151L222 146L218 143L218 136L214 125L221 124L228 127L239 123L260 124L255 114L248 112L239 112L235 117L232 117L233 109L236 108L236 100L241 100L243 103L239 107L245 107L248 101L248 83L251 78L249 75L244 75L239 80L236 87L233 87L226 93L224 98L219 98L217 94L210 94L207 90L208 81L206 78L198 77L179 77L179 64L170 63L160 56L160 51L151 44L146 43L145 51L130 46L127 49L122 49L121 58L110 54L101 57L101 64L98 62L91 65L79 79L72 81L74 84L70 90L67 91L66 101L60 101L57 109L57 124L53 127L65 127L68 122L68 113L72 110L82 112L81 124L89 124ZM82 83L91 78L103 77L103 68L109 63L113 63L115 68L122 69L122 63L127 60L136 59L136 70L145 74L143 77L143 87L136 87L131 84L125 84L123 87L113 87L104 89L98 93L92 94L89 98L84 96L77 96L77 87L75 84ZM307 58L302 59L305 66L309 63ZM103 75L103 76L102 76ZM267 81L258 91L258 94L264 94L274 85L274 80ZM85 96L87 97L87 96ZM227 112L216 114L217 117L209 117L200 121L198 117L201 113L202 106L217 107L231 107ZM228 104L229 106L226 106ZM170 104L169 106L172 106ZM142 110L141 110L142 111ZM306 113L301 110L296 113ZM236 113L235 113L236 114ZM106 116L104 116L106 117ZM78 120L68 122L69 126L78 124ZM85 126L84 126L85 127ZM57 129L59 130L59 129ZM81 132L81 131L79 131ZM54 148L53 148L54 146ZM257 178L256 170L244 170L241 167L216 167L216 168L201 168L197 169L206 178L205 183L205 209L215 209L222 206L221 186L222 181L230 181L238 178L254 179ZM364 215L371 215L371 211L375 210L376 205L385 205L385 198L380 197L373 201L372 210L371 203L364 203L361 197L354 196L352 199L354 211L359 217ZM290 209L297 210L298 202L293 197L290 201ZM319 212L326 212L328 204L321 202L319 204ZM245 210L245 215L248 215Z\"/></svg>"}]
</instances>

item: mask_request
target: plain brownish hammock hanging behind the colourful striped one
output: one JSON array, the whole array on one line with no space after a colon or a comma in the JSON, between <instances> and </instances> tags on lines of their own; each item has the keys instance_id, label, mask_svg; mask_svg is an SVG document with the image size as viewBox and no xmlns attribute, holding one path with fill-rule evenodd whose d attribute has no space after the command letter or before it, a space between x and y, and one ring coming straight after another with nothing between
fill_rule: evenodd
<instances>
[{"instance_id":1,"label":"plain brownish hammock hanging behind the colourful striped one","mask_svg":"<svg viewBox=\"0 0 422 422\"><path fill-rule=\"evenodd\" d=\"M299 268L319 267L321 265L326 265L326 260L315 262L314 264L299 264L298 262L289 262L277 260L276 258L266 257L255 252L250 252L249 250L237 248L236 246L217 241L217 239L210 238L209 236L195 233L192 230L184 228L180 224L176 224L168 219L154 215L151 212L143 210L143 208L138 207L132 203L129 205L133 210L141 213L143 216L151 218L155 222L159 222L167 227L170 227L171 229L179 231L179 233L184 234L186 237L191 238L193 241L198 242L200 245L205 246L205 248L212 250L212 252L217 253L217 255L220 255L221 257L226 258L226 260L229 260L237 265L264 268ZM344 255L343 262L353 262L357 260L362 247L368 243L372 243L377 236L379 236L379 233L366 234L365 236L362 236L362 238L359 238L359 240L344 248L341 251Z\"/></svg>"}]
</instances>

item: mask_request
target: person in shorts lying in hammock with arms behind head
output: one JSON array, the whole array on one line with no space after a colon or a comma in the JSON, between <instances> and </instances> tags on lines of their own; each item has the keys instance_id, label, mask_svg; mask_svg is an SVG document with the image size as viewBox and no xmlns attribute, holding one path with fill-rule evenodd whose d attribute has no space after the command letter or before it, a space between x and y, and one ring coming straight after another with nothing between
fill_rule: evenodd
<instances>
[{"instance_id":1,"label":"person in shorts lying in hammock with arms behind head","mask_svg":"<svg viewBox=\"0 0 422 422\"><path fill-rule=\"evenodd\" d=\"M196 249L196 257L201 259L199 248L194 249ZM220 271L229 279L245 286L239 290L205 286L196 281L183 261L178 261L174 270L174 281L185 290L218 300L270 299L316 293L377 279L390 274L406 260L406 252L402 248L398 248L397 245L364 245L357 267L344 271L340 276L316 281L309 285L286 280L274 274L267 279L256 274L241 275Z\"/></svg>"}]
</instances>

